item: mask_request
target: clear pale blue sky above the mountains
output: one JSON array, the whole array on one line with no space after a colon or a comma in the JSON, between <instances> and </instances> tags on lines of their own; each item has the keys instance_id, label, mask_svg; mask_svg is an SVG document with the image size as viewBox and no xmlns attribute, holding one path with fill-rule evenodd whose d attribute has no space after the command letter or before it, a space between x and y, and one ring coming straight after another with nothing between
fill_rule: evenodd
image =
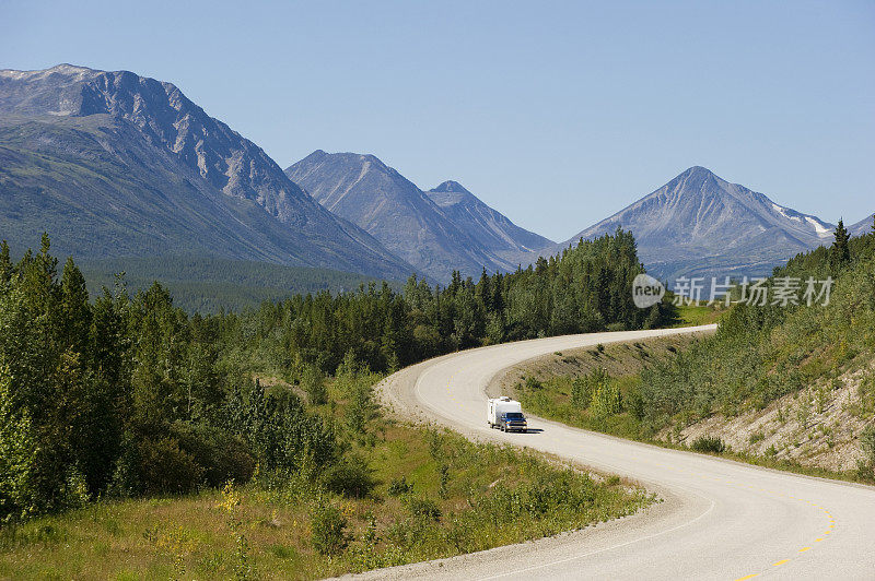
<instances>
[{"instance_id":1,"label":"clear pale blue sky above the mountains","mask_svg":"<svg viewBox=\"0 0 875 581\"><path fill-rule=\"evenodd\" d=\"M0 0L0 68L170 81L282 167L373 153L555 240L692 165L875 210L875 2Z\"/></svg>"}]
</instances>

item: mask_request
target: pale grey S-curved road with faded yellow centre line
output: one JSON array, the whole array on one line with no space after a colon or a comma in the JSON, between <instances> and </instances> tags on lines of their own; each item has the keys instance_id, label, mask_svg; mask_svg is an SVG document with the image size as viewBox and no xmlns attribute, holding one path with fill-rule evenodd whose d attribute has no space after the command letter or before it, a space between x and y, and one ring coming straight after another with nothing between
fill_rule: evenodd
<instances>
[{"instance_id":1,"label":"pale grey S-curved road with faded yellow centre line","mask_svg":"<svg viewBox=\"0 0 875 581\"><path fill-rule=\"evenodd\" d=\"M455 353L380 388L387 405L466 434L530 447L633 478L665 502L627 519L522 545L372 571L453 579L875 579L875 488L666 450L529 418L535 434L486 424L502 369L556 351L689 329L593 333ZM537 431L541 430L541 431Z\"/></svg>"}]
</instances>

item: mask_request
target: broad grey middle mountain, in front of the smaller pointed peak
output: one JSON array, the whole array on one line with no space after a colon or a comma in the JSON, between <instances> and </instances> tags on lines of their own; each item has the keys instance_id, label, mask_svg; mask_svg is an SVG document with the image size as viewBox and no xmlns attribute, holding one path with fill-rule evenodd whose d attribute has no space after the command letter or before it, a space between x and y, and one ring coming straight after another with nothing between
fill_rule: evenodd
<instances>
[{"instance_id":1,"label":"broad grey middle mountain, in front of the smaller pointed peak","mask_svg":"<svg viewBox=\"0 0 875 581\"><path fill-rule=\"evenodd\" d=\"M512 264L464 230L413 182L373 155L316 151L287 176L330 212L380 240L424 274L447 282L454 270L477 276Z\"/></svg>"}]
</instances>

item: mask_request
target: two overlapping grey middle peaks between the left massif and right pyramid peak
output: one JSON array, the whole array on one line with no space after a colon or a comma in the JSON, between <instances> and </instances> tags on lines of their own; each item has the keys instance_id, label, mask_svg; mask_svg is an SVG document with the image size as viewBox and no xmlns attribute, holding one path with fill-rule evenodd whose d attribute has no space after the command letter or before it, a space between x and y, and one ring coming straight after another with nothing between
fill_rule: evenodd
<instances>
[{"instance_id":1,"label":"two overlapping grey middle peaks between the left massif and right pyramid peak","mask_svg":"<svg viewBox=\"0 0 875 581\"><path fill-rule=\"evenodd\" d=\"M512 270L504 258L550 241L515 226L454 181L423 192L373 155L317 150L285 175L323 206L357 224L417 270L446 281Z\"/></svg>"}]
</instances>

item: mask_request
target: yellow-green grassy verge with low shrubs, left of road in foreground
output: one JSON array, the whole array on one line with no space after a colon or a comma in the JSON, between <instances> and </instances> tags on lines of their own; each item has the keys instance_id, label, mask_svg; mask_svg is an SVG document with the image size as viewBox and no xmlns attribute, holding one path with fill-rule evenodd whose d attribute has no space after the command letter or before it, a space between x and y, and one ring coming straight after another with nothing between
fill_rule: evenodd
<instances>
[{"instance_id":1,"label":"yellow-green grassy verge with low shrubs, left of road in foreground","mask_svg":"<svg viewBox=\"0 0 875 581\"><path fill-rule=\"evenodd\" d=\"M0 578L312 579L549 536L653 501L616 477L400 425L373 405L363 429L347 429L358 390L375 379L334 382L317 406L355 459L332 474L257 476L7 525Z\"/></svg>"}]
</instances>

